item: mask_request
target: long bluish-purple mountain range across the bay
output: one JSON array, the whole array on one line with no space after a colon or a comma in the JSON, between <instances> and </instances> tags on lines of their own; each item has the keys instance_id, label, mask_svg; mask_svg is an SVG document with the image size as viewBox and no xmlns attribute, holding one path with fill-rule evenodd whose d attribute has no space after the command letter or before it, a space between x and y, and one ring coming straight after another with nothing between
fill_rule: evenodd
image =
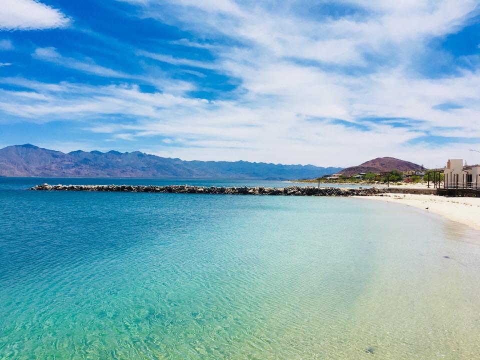
<instances>
[{"instance_id":1,"label":"long bluish-purple mountain range across the bay","mask_svg":"<svg viewBox=\"0 0 480 360\"><path fill-rule=\"evenodd\" d=\"M0 176L158 177L298 179L337 172L341 167L282 165L248 161L183 161L140 151L63 153L31 144L0 149Z\"/></svg>"}]
</instances>

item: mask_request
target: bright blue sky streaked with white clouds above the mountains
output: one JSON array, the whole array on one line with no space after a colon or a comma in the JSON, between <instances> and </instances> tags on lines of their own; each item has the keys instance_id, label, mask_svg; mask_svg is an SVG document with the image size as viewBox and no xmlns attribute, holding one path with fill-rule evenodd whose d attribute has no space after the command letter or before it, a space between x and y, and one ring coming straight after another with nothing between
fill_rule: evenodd
<instances>
[{"instance_id":1,"label":"bright blue sky streaked with white clouds above the mountains","mask_svg":"<svg viewBox=\"0 0 480 360\"><path fill-rule=\"evenodd\" d=\"M480 1L1 0L0 147L479 163Z\"/></svg>"}]
</instances>

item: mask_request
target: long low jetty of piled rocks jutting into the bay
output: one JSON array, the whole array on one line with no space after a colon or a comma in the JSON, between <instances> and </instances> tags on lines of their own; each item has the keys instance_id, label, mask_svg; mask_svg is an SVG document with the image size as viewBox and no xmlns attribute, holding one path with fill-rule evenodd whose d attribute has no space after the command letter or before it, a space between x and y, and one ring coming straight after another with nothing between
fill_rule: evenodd
<instances>
[{"instance_id":1,"label":"long low jetty of piled rocks jutting into the bay","mask_svg":"<svg viewBox=\"0 0 480 360\"><path fill-rule=\"evenodd\" d=\"M49 185L31 187L30 190L47 191L115 191L115 192L162 192L205 193L234 195L284 195L284 196L371 196L387 192L384 188L339 188L313 186L287 187L217 187L191 185Z\"/></svg>"}]
</instances>

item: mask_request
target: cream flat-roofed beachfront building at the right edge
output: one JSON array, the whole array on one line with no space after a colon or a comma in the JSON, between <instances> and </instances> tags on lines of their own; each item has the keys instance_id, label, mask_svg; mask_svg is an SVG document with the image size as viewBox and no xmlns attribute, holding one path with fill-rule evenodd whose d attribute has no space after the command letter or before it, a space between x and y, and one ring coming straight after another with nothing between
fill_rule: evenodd
<instances>
[{"instance_id":1,"label":"cream flat-roofed beachfront building at the right edge","mask_svg":"<svg viewBox=\"0 0 480 360\"><path fill-rule=\"evenodd\" d=\"M480 165L468 166L463 159L449 159L443 170L447 188L480 188Z\"/></svg>"}]
</instances>

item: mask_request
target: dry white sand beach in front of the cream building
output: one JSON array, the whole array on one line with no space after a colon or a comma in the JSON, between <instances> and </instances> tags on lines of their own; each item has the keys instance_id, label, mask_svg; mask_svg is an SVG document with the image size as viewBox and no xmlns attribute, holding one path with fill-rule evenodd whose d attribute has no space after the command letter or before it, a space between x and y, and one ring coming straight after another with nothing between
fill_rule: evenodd
<instances>
[{"instance_id":1,"label":"dry white sand beach in front of the cream building","mask_svg":"<svg viewBox=\"0 0 480 360\"><path fill-rule=\"evenodd\" d=\"M480 230L480 197L445 197L393 193L384 194L383 196L355 197L418 207Z\"/></svg>"}]
</instances>

